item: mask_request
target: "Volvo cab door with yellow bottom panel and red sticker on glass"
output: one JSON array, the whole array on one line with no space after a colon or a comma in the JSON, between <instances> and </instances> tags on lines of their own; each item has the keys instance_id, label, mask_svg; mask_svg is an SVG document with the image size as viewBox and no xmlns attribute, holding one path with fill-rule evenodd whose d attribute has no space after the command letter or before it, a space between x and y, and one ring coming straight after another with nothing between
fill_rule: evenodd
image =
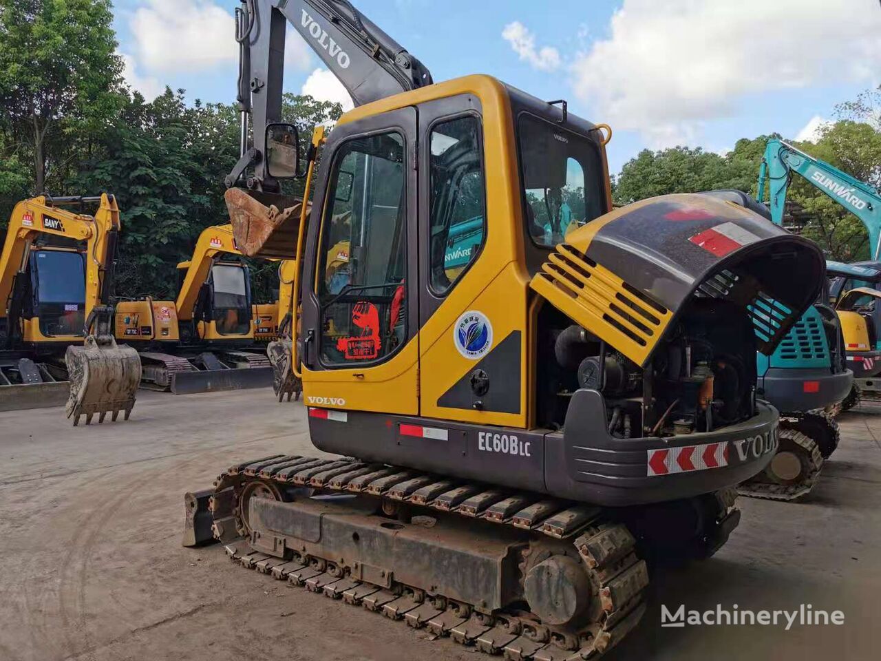
<instances>
[{"instance_id":1,"label":"Volvo cab door with yellow bottom panel and red sticker on glass","mask_svg":"<svg viewBox=\"0 0 881 661\"><path fill-rule=\"evenodd\" d=\"M418 413L416 123L401 108L325 145L301 289L307 405Z\"/></svg>"}]
</instances>

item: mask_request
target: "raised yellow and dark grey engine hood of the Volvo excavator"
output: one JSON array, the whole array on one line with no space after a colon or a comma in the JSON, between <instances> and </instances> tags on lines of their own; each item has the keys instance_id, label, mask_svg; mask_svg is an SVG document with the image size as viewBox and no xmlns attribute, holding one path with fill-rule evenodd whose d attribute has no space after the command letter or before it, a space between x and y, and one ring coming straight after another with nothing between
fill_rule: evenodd
<instances>
[{"instance_id":1,"label":"raised yellow and dark grey engine hood of the Volvo excavator","mask_svg":"<svg viewBox=\"0 0 881 661\"><path fill-rule=\"evenodd\" d=\"M824 279L812 241L694 193L628 204L570 232L530 286L645 366L692 296L745 308L759 351L773 353Z\"/></svg>"}]
</instances>

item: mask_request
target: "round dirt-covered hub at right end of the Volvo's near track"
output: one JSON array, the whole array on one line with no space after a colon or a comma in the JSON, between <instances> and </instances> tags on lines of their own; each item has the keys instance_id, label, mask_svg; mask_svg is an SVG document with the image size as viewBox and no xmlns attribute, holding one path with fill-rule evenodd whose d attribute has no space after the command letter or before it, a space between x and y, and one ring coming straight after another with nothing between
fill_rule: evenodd
<instances>
[{"instance_id":1,"label":"round dirt-covered hub at right end of the Volvo's near track","mask_svg":"<svg viewBox=\"0 0 881 661\"><path fill-rule=\"evenodd\" d=\"M529 608L544 624L571 624L590 604L588 575L580 561L566 555L552 555L529 569L523 587Z\"/></svg>"}]
</instances>

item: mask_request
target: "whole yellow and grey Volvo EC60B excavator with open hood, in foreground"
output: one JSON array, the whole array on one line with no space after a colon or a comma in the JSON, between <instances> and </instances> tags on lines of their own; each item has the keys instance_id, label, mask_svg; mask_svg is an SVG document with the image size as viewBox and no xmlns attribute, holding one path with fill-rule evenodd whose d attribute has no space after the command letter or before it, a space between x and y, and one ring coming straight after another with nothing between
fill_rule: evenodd
<instances>
[{"instance_id":1,"label":"whole yellow and grey Volvo EC60B excavator with open hood, in foreground","mask_svg":"<svg viewBox=\"0 0 881 661\"><path fill-rule=\"evenodd\" d=\"M292 372L341 457L233 465L185 494L184 544L485 652L601 656L645 610L646 554L706 557L737 526L732 487L778 443L755 352L816 299L820 251L717 197L613 210L608 127L487 76L433 83L348 2L237 18L226 203L245 254L298 264ZM356 106L305 168L288 21ZM295 176L311 212L281 194Z\"/></svg>"}]
</instances>

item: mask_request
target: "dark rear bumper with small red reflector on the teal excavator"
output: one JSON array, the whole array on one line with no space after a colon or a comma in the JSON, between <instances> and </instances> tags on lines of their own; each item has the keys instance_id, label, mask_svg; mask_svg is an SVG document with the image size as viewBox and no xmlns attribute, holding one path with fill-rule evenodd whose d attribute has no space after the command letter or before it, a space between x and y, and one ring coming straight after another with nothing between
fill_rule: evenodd
<instances>
[{"instance_id":1,"label":"dark rear bumper with small red reflector on the teal excavator","mask_svg":"<svg viewBox=\"0 0 881 661\"><path fill-rule=\"evenodd\" d=\"M839 403L853 381L849 369L831 374L825 368L770 368L759 377L758 386L759 395L779 411L796 412Z\"/></svg>"}]
</instances>

